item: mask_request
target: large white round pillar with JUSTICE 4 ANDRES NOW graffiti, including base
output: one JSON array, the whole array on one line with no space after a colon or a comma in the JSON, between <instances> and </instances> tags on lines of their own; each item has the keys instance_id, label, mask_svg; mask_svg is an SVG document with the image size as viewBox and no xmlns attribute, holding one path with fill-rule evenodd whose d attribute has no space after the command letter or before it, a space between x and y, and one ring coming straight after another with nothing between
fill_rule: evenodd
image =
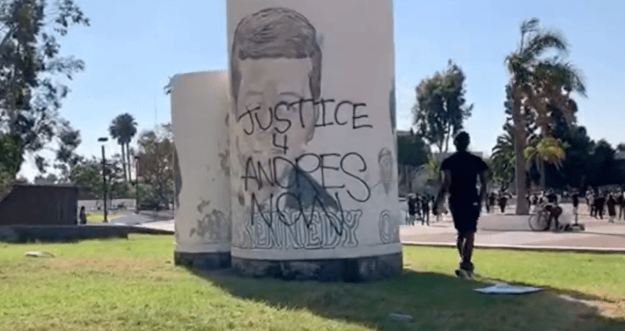
<instances>
[{"instance_id":1,"label":"large white round pillar with JUSTICE 4 ANDRES NOW graffiti, including base","mask_svg":"<svg viewBox=\"0 0 625 331\"><path fill-rule=\"evenodd\" d=\"M400 273L392 7L227 1L234 271Z\"/></svg>"}]
</instances>

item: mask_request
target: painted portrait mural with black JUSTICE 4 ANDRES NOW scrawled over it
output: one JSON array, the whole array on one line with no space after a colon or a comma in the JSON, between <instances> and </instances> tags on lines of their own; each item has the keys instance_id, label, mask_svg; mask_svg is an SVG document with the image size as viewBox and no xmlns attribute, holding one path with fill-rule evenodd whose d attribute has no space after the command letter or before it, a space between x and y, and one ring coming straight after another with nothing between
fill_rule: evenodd
<instances>
[{"instance_id":1,"label":"painted portrait mural with black JUSTICE 4 ANDRES NOW scrawled over it","mask_svg":"<svg viewBox=\"0 0 625 331\"><path fill-rule=\"evenodd\" d=\"M354 206L372 196L366 159L356 150L330 146L319 152L309 146L326 129L361 132L373 124L365 102L322 97L318 35L307 17L289 8L247 15L234 31L230 128L238 168L233 180L241 187L232 196L245 209L245 220L233 220L234 246L358 245L355 229L363 211ZM379 184L388 194L393 182L389 148L380 150L378 163Z\"/></svg>"}]
</instances>

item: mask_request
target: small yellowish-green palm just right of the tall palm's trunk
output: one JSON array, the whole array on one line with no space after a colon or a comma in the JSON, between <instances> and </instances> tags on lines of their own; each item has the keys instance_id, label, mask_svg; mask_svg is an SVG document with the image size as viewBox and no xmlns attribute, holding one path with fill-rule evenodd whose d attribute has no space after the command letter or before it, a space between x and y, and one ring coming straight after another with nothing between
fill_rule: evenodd
<instances>
[{"instance_id":1,"label":"small yellowish-green palm just right of the tall palm's trunk","mask_svg":"<svg viewBox=\"0 0 625 331\"><path fill-rule=\"evenodd\" d=\"M540 172L540 186L545 189L545 166L547 164L555 165L556 168L562 168L568 144L560 139L553 137L533 137L530 139L528 147L523 151L523 156L528 161L528 168L534 163Z\"/></svg>"}]
</instances>

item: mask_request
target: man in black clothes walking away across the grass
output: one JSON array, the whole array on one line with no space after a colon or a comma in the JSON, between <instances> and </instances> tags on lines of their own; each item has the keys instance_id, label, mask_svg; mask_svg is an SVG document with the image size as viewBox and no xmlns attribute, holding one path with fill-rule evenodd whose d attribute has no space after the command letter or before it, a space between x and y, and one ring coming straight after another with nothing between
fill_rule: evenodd
<instances>
[{"instance_id":1,"label":"man in black clothes walking away across the grass","mask_svg":"<svg viewBox=\"0 0 625 331\"><path fill-rule=\"evenodd\" d=\"M487 190L486 163L467 152L469 134L461 131L455 136L453 143L457 152L449 156L441 164L443 185L437 195L432 212L439 213L446 193L449 193L449 209L453 225L457 230L457 249L460 255L460 268L456 270L458 277L471 277L475 267L471 263L473 242L478 230L481 204L485 202ZM480 177L480 193L477 190L477 178Z\"/></svg>"}]
</instances>

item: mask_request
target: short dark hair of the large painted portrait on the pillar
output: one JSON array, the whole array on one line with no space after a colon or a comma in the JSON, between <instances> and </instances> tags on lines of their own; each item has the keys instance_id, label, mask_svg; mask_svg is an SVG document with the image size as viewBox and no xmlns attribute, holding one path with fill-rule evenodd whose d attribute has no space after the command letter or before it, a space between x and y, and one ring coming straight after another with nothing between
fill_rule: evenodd
<instances>
[{"instance_id":1,"label":"short dark hair of the large painted portrait on the pillar","mask_svg":"<svg viewBox=\"0 0 625 331\"><path fill-rule=\"evenodd\" d=\"M289 8L266 8L247 15L234 30L230 74L236 102L241 86L238 61L248 58L310 58L309 85L312 97L321 96L321 48L317 32L308 19Z\"/></svg>"}]
</instances>

